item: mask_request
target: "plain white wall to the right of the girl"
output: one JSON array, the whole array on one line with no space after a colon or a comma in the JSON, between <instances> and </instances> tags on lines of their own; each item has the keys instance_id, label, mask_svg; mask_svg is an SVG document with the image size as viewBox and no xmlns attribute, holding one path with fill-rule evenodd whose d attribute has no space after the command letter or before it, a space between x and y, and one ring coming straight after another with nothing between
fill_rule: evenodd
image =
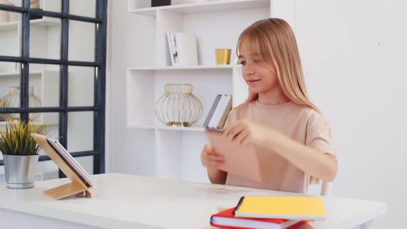
<instances>
[{"instance_id":1,"label":"plain white wall to the right of the girl","mask_svg":"<svg viewBox=\"0 0 407 229\"><path fill-rule=\"evenodd\" d=\"M332 195L388 203L377 228L399 228L407 203L406 1L297 1L295 33L310 97L332 124Z\"/></svg>"}]
</instances>

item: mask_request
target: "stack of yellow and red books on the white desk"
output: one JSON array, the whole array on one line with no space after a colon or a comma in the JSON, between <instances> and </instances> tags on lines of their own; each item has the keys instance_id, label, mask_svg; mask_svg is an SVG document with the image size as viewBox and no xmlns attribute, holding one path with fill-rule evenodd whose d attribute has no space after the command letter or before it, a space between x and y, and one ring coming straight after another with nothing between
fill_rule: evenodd
<instances>
[{"instance_id":1,"label":"stack of yellow and red books on the white desk","mask_svg":"<svg viewBox=\"0 0 407 229\"><path fill-rule=\"evenodd\" d=\"M235 208L210 217L218 228L297 228L308 220L325 220L319 197L241 197Z\"/></svg>"}]
</instances>

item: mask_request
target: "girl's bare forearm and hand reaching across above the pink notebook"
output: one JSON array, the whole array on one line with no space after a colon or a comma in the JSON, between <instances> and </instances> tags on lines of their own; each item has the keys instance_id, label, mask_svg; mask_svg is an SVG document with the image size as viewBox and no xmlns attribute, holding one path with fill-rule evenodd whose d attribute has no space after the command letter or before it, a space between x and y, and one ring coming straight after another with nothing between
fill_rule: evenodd
<instances>
[{"instance_id":1,"label":"girl's bare forearm and hand reaching across above the pink notebook","mask_svg":"<svg viewBox=\"0 0 407 229\"><path fill-rule=\"evenodd\" d=\"M265 126L241 120L232 123L224 135L244 145L261 146L266 151L276 152L306 174L324 181L330 182L337 175L335 156L304 146Z\"/></svg>"}]
</instances>

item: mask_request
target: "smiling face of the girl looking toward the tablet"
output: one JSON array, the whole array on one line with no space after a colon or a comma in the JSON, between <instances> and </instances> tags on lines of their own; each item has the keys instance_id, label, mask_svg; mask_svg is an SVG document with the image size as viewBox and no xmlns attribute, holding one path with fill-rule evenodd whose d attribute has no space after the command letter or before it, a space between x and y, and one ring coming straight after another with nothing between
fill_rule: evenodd
<instances>
[{"instance_id":1,"label":"smiling face of the girl looking toward the tablet","mask_svg":"<svg viewBox=\"0 0 407 229\"><path fill-rule=\"evenodd\" d=\"M242 65L243 78L251 93L264 94L278 88L277 70L274 64L270 68L264 66L264 60L245 39L239 47L239 63Z\"/></svg>"}]
</instances>

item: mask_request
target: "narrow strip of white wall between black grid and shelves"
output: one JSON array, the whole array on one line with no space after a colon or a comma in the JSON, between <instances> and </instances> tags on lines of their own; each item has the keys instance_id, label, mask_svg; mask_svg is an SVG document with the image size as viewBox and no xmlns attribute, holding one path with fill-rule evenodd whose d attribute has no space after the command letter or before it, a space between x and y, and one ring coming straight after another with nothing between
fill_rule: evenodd
<instances>
[{"instance_id":1,"label":"narrow strip of white wall between black grid and shelves","mask_svg":"<svg viewBox=\"0 0 407 229\"><path fill-rule=\"evenodd\" d=\"M153 66L155 63L155 21L145 17L127 13L127 1L109 1L108 17L108 81L106 98L106 121L108 137L106 141L106 160L110 172L123 172L137 175L154 174L153 152L140 152L132 149L140 141L151 141L154 144L154 131L150 138L134 129L126 128L126 69L128 66ZM140 28L150 23L149 31ZM137 46L135 42L143 43Z\"/></svg>"}]
</instances>

